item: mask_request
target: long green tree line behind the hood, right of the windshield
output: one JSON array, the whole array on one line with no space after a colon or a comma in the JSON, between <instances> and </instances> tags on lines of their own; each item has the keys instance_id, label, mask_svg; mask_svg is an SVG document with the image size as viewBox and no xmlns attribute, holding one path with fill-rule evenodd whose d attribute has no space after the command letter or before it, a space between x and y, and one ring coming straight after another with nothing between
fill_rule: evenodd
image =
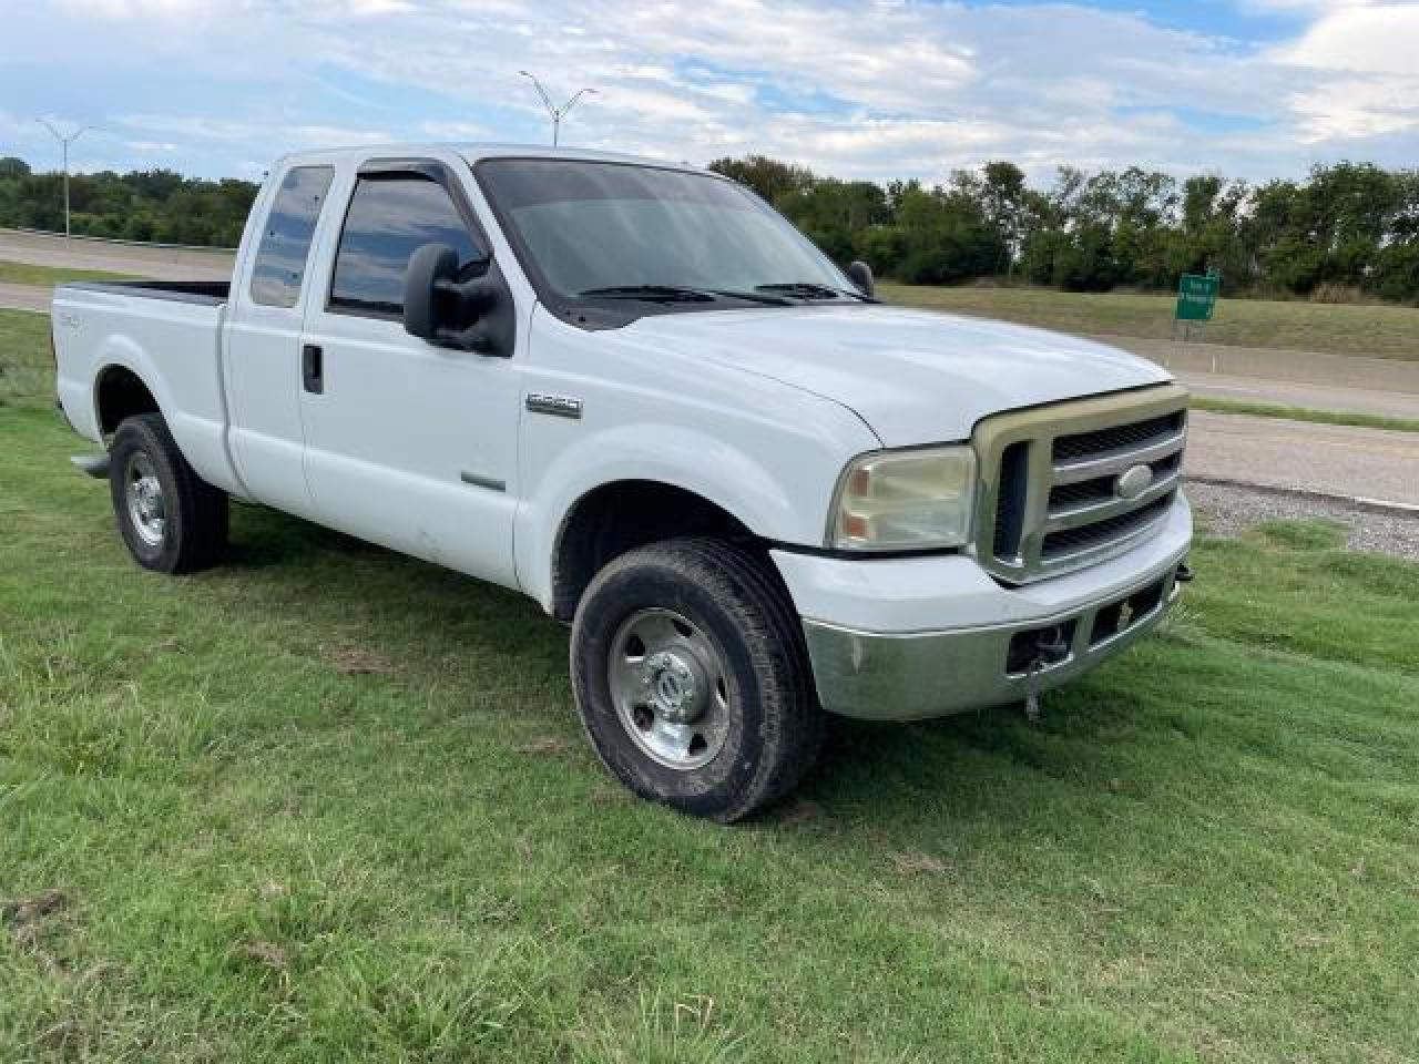
<instances>
[{"instance_id":1,"label":"long green tree line behind the hood, right of the windshield","mask_svg":"<svg viewBox=\"0 0 1419 1064\"><path fill-rule=\"evenodd\" d=\"M1419 304L1419 170L1345 162L1249 184L1063 166L1034 189L1010 162L939 186L844 182L763 156L710 167L752 187L836 261L861 258L910 284L1174 289L1182 274L1216 270L1232 294L1358 291Z\"/></svg>"}]
</instances>

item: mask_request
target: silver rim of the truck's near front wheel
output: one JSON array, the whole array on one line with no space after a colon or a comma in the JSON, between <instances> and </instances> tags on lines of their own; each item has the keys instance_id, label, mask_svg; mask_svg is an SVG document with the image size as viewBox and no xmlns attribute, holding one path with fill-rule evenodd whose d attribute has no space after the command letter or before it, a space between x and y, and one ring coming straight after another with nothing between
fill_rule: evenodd
<instances>
[{"instance_id":1,"label":"silver rim of the truck's near front wheel","mask_svg":"<svg viewBox=\"0 0 1419 1064\"><path fill-rule=\"evenodd\" d=\"M729 684L719 650L674 610L637 610L612 640L607 677L622 726L646 756L690 772L729 735Z\"/></svg>"}]
</instances>

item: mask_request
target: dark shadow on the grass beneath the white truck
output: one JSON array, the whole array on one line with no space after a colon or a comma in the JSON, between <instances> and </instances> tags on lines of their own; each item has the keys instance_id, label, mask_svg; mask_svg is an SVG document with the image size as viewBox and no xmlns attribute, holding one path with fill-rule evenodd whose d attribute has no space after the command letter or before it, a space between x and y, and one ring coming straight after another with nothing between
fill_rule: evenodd
<instances>
[{"instance_id":1,"label":"dark shadow on the grass beneath the white truck","mask_svg":"<svg viewBox=\"0 0 1419 1064\"><path fill-rule=\"evenodd\" d=\"M254 579L280 596L282 610L316 638L339 633L396 661L400 682L413 689L444 684L451 660L478 663L487 672L475 670L467 681L470 701L484 694L488 675L517 677L518 688L539 697L521 701L509 726L538 721L580 749L566 630L531 599L277 511L240 508L233 528L241 584ZM1118 772L1107 739L1127 736L1141 712L1127 691L1084 687L1049 695L1039 724L1026 722L1019 705L915 724L833 718L800 793L850 817L871 810L910 830L924 809L988 814L1022 779L1046 789L1105 789ZM600 772L586 753L580 767ZM771 810L762 820L775 817Z\"/></svg>"}]
</instances>

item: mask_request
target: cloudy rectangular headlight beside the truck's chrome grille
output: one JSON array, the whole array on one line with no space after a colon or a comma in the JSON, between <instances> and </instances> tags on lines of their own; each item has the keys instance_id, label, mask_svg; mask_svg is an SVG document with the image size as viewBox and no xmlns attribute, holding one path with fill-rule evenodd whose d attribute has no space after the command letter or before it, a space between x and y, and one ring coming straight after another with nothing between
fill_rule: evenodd
<instances>
[{"instance_id":1,"label":"cloudy rectangular headlight beside the truck's chrome grille","mask_svg":"<svg viewBox=\"0 0 1419 1064\"><path fill-rule=\"evenodd\" d=\"M931 447L854 458L833 499L827 546L922 550L971 539L975 451Z\"/></svg>"}]
</instances>

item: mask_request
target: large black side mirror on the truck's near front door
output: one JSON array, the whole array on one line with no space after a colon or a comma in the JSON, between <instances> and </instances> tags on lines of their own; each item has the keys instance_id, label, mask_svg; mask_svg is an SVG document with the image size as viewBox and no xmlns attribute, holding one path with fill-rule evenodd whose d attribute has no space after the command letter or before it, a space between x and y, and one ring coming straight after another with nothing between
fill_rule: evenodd
<instances>
[{"instance_id":1,"label":"large black side mirror on the truck's near front door","mask_svg":"<svg viewBox=\"0 0 1419 1064\"><path fill-rule=\"evenodd\" d=\"M404 274L404 332L429 343L480 355L512 355L512 294L497 264L458 279L458 253L424 244L409 257Z\"/></svg>"}]
</instances>

